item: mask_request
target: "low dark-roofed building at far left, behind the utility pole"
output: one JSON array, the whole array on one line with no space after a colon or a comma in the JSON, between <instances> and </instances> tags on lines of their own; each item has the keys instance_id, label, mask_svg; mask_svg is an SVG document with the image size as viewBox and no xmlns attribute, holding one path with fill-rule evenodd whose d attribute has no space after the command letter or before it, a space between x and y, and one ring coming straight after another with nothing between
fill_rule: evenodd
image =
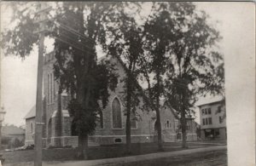
<instances>
[{"instance_id":1,"label":"low dark-roofed building at far left, behind the utility pole","mask_svg":"<svg viewBox=\"0 0 256 166\"><path fill-rule=\"evenodd\" d=\"M23 146L25 141L25 129L15 125L2 127L2 146L3 149Z\"/></svg>"}]
</instances>

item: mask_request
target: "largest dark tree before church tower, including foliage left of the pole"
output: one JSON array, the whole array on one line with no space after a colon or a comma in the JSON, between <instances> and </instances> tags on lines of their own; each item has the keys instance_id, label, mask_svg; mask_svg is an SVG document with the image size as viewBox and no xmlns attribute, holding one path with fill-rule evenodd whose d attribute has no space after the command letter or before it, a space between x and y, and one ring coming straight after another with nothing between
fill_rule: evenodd
<instances>
[{"instance_id":1,"label":"largest dark tree before church tower, including foliage left of the pole","mask_svg":"<svg viewBox=\"0 0 256 166\"><path fill-rule=\"evenodd\" d=\"M59 3L57 3L59 4ZM68 104L79 133L79 157L86 158L88 135L96 128L96 113L108 103L108 88L117 83L111 67L98 64L96 45L106 41L103 23L108 21L113 6L118 3L61 3L45 24L54 31L45 35L55 38L55 78L60 83L59 94L65 89L72 100ZM8 54L29 55L38 35L29 4L24 4L16 19L14 31L2 33L2 47ZM36 5L35 5L36 6ZM60 106L59 106L60 107Z\"/></svg>"}]
</instances>

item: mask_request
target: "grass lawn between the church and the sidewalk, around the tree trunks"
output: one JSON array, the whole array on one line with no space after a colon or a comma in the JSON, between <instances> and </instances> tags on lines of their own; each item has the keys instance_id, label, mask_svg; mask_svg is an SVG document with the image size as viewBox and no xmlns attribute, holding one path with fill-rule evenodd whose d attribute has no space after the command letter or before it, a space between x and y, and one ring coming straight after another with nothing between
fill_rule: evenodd
<instances>
[{"instance_id":1,"label":"grass lawn between the church and the sidewalk, around the tree trunks","mask_svg":"<svg viewBox=\"0 0 256 166\"><path fill-rule=\"evenodd\" d=\"M206 146L215 146L214 144L201 144L201 142L189 143L189 148L199 148ZM165 143L165 152L183 150L181 143ZM43 150L43 161L67 161L76 160L75 148L55 148ZM147 154L152 152L158 152L157 145L155 143L144 144L131 144L131 155ZM97 146L89 148L89 159L110 158L110 157L124 157L125 145L111 145L111 146ZM4 163L26 163L32 162L34 158L34 150L15 151L15 152L3 152L5 158Z\"/></svg>"}]
</instances>

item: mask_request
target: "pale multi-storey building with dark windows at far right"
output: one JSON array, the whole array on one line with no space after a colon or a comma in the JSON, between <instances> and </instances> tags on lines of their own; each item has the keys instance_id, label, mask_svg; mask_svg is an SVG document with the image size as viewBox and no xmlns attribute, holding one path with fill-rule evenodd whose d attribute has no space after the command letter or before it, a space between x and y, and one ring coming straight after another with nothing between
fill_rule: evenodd
<instances>
[{"instance_id":1,"label":"pale multi-storey building with dark windows at far right","mask_svg":"<svg viewBox=\"0 0 256 166\"><path fill-rule=\"evenodd\" d=\"M202 140L224 140L227 138L224 100L199 106Z\"/></svg>"}]
</instances>

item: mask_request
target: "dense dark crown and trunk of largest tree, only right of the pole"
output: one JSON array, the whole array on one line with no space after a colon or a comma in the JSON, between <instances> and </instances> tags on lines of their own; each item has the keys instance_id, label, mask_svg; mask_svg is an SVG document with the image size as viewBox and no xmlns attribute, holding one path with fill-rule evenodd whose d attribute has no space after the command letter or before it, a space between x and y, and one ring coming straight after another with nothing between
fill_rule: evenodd
<instances>
[{"instance_id":1,"label":"dense dark crown and trunk of largest tree, only right of the pole","mask_svg":"<svg viewBox=\"0 0 256 166\"><path fill-rule=\"evenodd\" d=\"M111 67L96 61L96 45L106 41L103 25L113 5L64 3L61 12L65 16L57 19L55 76L72 96L68 107L79 134L79 157L83 158L88 135L96 128L96 114L108 104L108 88L113 90L117 83ZM84 17L85 11L89 14Z\"/></svg>"}]
</instances>

